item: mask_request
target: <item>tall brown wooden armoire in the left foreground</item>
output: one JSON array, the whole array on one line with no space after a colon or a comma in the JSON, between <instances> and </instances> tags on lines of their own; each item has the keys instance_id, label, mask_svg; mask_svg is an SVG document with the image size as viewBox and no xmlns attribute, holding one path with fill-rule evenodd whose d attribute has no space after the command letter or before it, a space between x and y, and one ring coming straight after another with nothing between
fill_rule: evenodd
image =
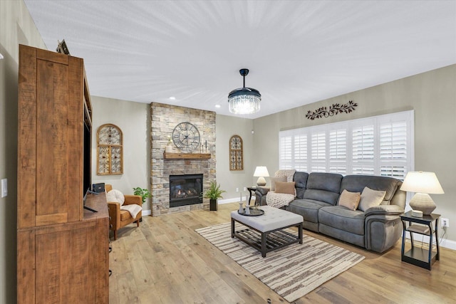
<instances>
[{"instance_id":1,"label":"tall brown wooden armoire in the left foreground","mask_svg":"<svg viewBox=\"0 0 456 304\"><path fill-rule=\"evenodd\" d=\"M98 212L83 209L92 117L83 59L19 46L18 107L18 303L108 303L105 194L86 198Z\"/></svg>"}]
</instances>

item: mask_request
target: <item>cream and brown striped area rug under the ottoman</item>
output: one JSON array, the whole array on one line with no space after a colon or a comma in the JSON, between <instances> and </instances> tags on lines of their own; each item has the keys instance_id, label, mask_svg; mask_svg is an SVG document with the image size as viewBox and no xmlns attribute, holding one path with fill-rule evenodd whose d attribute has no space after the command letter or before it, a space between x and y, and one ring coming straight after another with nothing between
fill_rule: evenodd
<instances>
[{"instance_id":1,"label":"cream and brown striped area rug under the ottoman","mask_svg":"<svg viewBox=\"0 0 456 304\"><path fill-rule=\"evenodd\" d=\"M238 224L237 224L238 225ZM246 228L237 226L236 230ZM293 232L293 230L288 229ZM303 243L294 243L261 258L261 253L237 238L231 238L231 224L196 230L223 253L252 273L269 288L292 302L339 273L363 261L364 256L303 234ZM257 232L246 234L257 238ZM296 234L297 232L294 231Z\"/></svg>"}]
</instances>

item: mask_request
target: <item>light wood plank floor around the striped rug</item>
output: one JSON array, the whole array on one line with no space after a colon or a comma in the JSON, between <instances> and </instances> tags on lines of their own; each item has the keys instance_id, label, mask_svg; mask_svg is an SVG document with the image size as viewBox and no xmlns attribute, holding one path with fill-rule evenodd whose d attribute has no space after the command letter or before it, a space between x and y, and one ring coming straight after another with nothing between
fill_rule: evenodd
<instances>
[{"instance_id":1,"label":"light wood plank floor around the striped rug","mask_svg":"<svg viewBox=\"0 0 456 304\"><path fill-rule=\"evenodd\" d=\"M112 241L111 304L287 303L195 232L229 221L239 204L219 211L144 216ZM456 251L440 250L432 271L400 261L400 241L378 254L305 231L366 259L294 303L456 303Z\"/></svg>"}]
</instances>

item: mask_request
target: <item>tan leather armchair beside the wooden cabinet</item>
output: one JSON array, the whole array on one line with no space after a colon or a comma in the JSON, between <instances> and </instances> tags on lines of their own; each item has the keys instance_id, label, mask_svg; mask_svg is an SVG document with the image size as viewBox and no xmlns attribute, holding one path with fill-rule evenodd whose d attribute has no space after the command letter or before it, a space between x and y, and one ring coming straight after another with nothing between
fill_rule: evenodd
<instances>
[{"instance_id":1,"label":"tan leather armchair beside the wooden cabinet","mask_svg":"<svg viewBox=\"0 0 456 304\"><path fill-rule=\"evenodd\" d=\"M113 189L113 186L110 184L105 185L106 193L110 192ZM140 195L124 195L125 201L123 206L130 204L137 204L142 208L142 197ZM114 239L117 239L117 231L131 224L133 222L136 225L140 226L140 219L142 216L142 211L140 211L135 218L133 218L129 211L120 209L120 204L117 201L108 201L108 211L109 211L109 227L114 232Z\"/></svg>"}]
</instances>

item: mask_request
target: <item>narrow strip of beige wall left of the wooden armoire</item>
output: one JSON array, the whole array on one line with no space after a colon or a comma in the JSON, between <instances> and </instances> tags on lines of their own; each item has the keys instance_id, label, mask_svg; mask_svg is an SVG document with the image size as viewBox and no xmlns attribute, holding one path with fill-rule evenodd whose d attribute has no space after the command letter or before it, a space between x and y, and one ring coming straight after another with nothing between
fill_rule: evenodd
<instances>
[{"instance_id":1,"label":"narrow strip of beige wall left of the wooden armoire","mask_svg":"<svg viewBox=\"0 0 456 304\"><path fill-rule=\"evenodd\" d=\"M16 303L17 87L19 43L46 49L23 1L0 1L0 303Z\"/></svg>"}]
</instances>

